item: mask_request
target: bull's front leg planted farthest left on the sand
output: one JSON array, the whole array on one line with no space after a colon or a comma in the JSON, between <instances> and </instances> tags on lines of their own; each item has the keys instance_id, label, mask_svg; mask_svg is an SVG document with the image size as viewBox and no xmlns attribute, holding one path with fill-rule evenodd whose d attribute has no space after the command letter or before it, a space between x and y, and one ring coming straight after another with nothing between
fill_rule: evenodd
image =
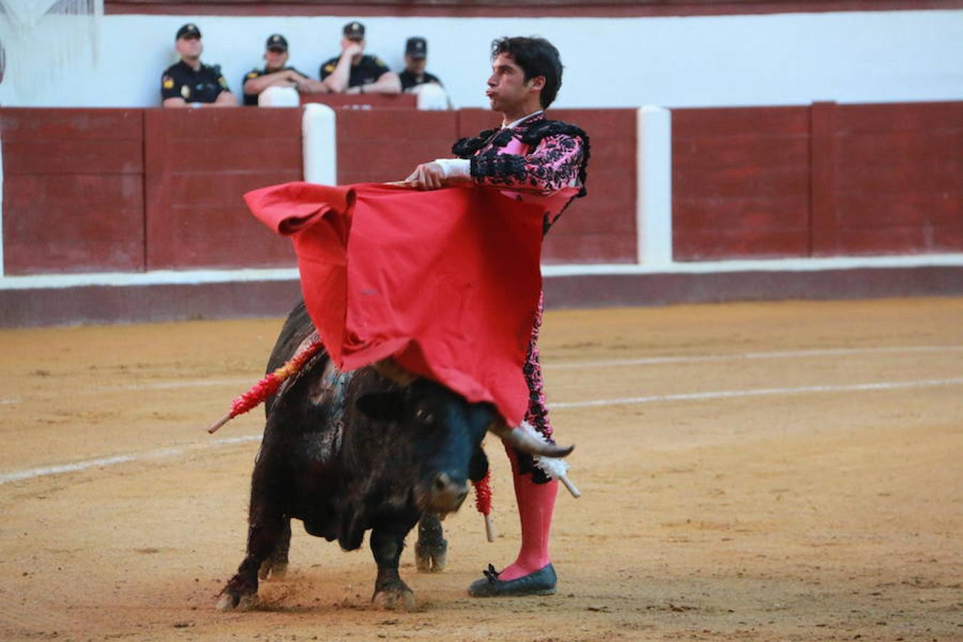
<instances>
[{"instance_id":1,"label":"bull's front leg planted farthest left on the sand","mask_svg":"<svg viewBox=\"0 0 963 642\"><path fill-rule=\"evenodd\" d=\"M237 574L221 590L218 608L222 611L247 608L254 603L258 569L277 549L285 530L290 533L290 524L284 517L278 490L278 480L273 477L265 458L259 459L254 465L250 482L247 556L238 567Z\"/></svg>"}]
</instances>

